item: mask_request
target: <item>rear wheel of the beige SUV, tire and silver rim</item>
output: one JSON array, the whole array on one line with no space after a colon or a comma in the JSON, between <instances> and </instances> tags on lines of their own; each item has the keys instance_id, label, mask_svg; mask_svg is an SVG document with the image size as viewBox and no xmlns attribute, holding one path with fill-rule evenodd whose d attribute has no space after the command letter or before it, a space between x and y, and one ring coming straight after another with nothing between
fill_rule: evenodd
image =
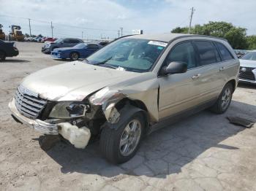
<instances>
[{"instance_id":1,"label":"rear wheel of the beige SUV, tire and silver rim","mask_svg":"<svg viewBox=\"0 0 256 191\"><path fill-rule=\"evenodd\" d=\"M227 83L225 87L223 87L222 93L220 93L219 98L217 99L214 106L211 106L211 112L216 114L223 114L227 111L230 106L233 95L233 85L231 83Z\"/></svg>"}]
</instances>

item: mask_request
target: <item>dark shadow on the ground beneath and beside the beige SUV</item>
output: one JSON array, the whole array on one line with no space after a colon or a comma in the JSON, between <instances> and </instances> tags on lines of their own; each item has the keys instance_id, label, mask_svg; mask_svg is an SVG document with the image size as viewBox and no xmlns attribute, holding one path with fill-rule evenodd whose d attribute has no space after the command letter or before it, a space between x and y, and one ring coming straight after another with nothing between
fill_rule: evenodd
<instances>
[{"instance_id":1,"label":"dark shadow on the ground beneath and beside the beige SUV","mask_svg":"<svg viewBox=\"0 0 256 191\"><path fill-rule=\"evenodd\" d=\"M122 165L106 162L99 153L99 142L89 145L85 150L60 142L47 154L61 165L61 172L64 174L79 172L105 177L129 174L165 178L169 174L179 173L184 165L201 157L212 147L223 150L239 149L221 143L245 129L230 124L226 117L243 115L255 119L253 111L256 111L256 106L233 101L225 114L203 111L184 118L147 136L137 155Z\"/></svg>"}]
</instances>

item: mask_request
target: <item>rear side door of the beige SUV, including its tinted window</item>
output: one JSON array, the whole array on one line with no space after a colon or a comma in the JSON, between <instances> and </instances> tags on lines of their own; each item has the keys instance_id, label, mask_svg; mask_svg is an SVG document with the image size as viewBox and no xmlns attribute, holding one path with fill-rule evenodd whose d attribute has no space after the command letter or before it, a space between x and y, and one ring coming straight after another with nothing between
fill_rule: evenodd
<instances>
[{"instance_id":1,"label":"rear side door of the beige SUV, including its tinted window","mask_svg":"<svg viewBox=\"0 0 256 191\"><path fill-rule=\"evenodd\" d=\"M219 71L221 58L214 42L207 40L193 41L198 55L197 82L200 83L200 102L211 101L222 90L222 76Z\"/></svg>"}]
</instances>

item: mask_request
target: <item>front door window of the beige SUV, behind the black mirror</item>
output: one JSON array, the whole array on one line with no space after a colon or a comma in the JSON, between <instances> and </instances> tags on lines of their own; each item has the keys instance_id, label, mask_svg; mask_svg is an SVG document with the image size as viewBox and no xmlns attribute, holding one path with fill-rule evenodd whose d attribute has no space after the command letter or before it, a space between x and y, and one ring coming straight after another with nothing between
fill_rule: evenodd
<instances>
[{"instance_id":1,"label":"front door window of the beige SUV, behind the black mirror","mask_svg":"<svg viewBox=\"0 0 256 191\"><path fill-rule=\"evenodd\" d=\"M175 61L187 63L187 69L192 69L197 66L195 50L191 42L182 42L176 45L169 55L167 55L165 64L167 65Z\"/></svg>"}]
</instances>

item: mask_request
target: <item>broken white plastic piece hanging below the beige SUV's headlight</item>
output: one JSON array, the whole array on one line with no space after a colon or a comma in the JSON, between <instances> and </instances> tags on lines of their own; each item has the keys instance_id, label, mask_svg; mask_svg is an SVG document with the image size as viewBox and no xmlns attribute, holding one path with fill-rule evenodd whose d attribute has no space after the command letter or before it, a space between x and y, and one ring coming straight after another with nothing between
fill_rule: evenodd
<instances>
[{"instance_id":1,"label":"broken white plastic piece hanging below the beige SUV's headlight","mask_svg":"<svg viewBox=\"0 0 256 191\"><path fill-rule=\"evenodd\" d=\"M73 144L75 148L86 148L91 137L89 128L78 128L78 126L71 125L69 122L59 123L59 127L59 134Z\"/></svg>"}]
</instances>

